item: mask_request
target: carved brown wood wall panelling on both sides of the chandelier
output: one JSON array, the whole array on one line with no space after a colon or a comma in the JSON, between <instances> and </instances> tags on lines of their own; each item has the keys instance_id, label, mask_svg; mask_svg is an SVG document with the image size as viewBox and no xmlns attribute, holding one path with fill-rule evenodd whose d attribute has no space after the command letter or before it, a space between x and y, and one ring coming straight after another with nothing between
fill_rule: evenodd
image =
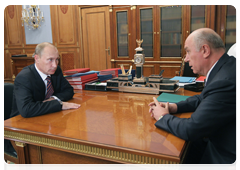
<instances>
[{"instance_id":1,"label":"carved brown wood wall panelling on both sides of the chandelier","mask_svg":"<svg viewBox=\"0 0 240 170\"><path fill-rule=\"evenodd\" d=\"M62 70L83 67L80 47L80 13L76 5L51 5L53 44L58 48ZM11 56L31 57L37 44L27 45L21 24L21 5L4 6L4 79L11 80L14 71Z\"/></svg>"}]
</instances>

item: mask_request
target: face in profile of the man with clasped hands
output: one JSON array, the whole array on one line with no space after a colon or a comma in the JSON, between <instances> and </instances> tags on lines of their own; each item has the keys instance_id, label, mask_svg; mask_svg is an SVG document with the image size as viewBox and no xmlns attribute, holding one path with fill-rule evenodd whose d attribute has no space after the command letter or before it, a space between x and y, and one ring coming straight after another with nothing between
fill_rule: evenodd
<instances>
[{"instance_id":1,"label":"face in profile of the man with clasped hands","mask_svg":"<svg viewBox=\"0 0 240 170\"><path fill-rule=\"evenodd\" d=\"M195 74L203 74L202 66L202 52L196 50L195 44L192 37L188 37L185 41L184 49L186 51L185 62L189 63L189 66Z\"/></svg>"}]
</instances>

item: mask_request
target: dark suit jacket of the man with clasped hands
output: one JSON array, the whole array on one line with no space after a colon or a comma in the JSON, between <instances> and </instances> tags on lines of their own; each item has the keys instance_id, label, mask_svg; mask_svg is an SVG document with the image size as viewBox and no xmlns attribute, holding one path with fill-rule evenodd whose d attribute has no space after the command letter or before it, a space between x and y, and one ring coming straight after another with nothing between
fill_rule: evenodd
<instances>
[{"instance_id":1,"label":"dark suit jacket of the man with clasped hands","mask_svg":"<svg viewBox=\"0 0 240 170\"><path fill-rule=\"evenodd\" d=\"M238 61L224 54L211 71L200 95L177 103L178 113L194 112L191 118L167 114L158 128L188 141L204 137L208 143L197 169L226 170L238 165Z\"/></svg>"}]
</instances>

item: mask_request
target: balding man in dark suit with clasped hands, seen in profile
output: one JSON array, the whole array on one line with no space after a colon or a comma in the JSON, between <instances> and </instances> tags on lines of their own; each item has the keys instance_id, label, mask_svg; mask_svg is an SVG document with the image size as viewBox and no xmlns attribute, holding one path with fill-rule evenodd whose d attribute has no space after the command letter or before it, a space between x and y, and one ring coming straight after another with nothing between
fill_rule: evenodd
<instances>
[{"instance_id":1,"label":"balding man in dark suit with clasped hands, seen in profile","mask_svg":"<svg viewBox=\"0 0 240 170\"><path fill-rule=\"evenodd\" d=\"M193 72L206 76L202 93L176 104L154 98L149 112L156 127L191 141L188 170L227 170L238 165L238 61L225 53L220 36L209 28L190 34L185 50ZM169 114L183 112L193 114Z\"/></svg>"}]
</instances>

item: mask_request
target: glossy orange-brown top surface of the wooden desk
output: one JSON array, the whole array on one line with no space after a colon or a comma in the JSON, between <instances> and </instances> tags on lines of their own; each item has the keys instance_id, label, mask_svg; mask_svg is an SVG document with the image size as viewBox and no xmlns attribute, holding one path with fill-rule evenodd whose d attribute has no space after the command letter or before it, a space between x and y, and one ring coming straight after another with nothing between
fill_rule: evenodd
<instances>
[{"instance_id":1,"label":"glossy orange-brown top surface of the wooden desk","mask_svg":"<svg viewBox=\"0 0 240 170\"><path fill-rule=\"evenodd\" d=\"M179 89L174 94L196 93ZM148 113L153 97L158 95L78 91L70 102L80 103L79 109L33 118L18 115L4 121L4 130L180 162L186 142L155 127Z\"/></svg>"}]
</instances>

